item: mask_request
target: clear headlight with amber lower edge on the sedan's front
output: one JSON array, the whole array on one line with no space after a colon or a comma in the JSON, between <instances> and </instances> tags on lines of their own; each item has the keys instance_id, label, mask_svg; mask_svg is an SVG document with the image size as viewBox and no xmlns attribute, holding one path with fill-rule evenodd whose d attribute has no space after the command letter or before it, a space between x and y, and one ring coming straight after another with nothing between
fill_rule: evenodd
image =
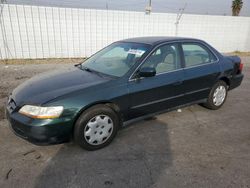
<instances>
[{"instance_id":1,"label":"clear headlight with amber lower edge on the sedan's front","mask_svg":"<svg viewBox=\"0 0 250 188\"><path fill-rule=\"evenodd\" d=\"M63 111L62 106L41 107L41 106L24 105L19 110L19 113L32 118L51 119L59 117L62 111Z\"/></svg>"}]
</instances>

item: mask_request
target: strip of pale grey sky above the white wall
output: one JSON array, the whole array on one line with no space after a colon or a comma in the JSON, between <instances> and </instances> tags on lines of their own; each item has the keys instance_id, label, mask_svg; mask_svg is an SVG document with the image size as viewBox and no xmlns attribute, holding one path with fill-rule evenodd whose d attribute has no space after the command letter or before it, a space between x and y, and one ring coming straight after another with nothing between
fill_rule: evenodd
<instances>
[{"instance_id":1,"label":"strip of pale grey sky above the white wall","mask_svg":"<svg viewBox=\"0 0 250 188\"><path fill-rule=\"evenodd\" d=\"M8 3L145 11L149 0L7 0ZM232 0L152 0L152 12L177 13L186 4L184 13L231 15ZM243 0L240 16L250 17L250 0Z\"/></svg>"}]
</instances>

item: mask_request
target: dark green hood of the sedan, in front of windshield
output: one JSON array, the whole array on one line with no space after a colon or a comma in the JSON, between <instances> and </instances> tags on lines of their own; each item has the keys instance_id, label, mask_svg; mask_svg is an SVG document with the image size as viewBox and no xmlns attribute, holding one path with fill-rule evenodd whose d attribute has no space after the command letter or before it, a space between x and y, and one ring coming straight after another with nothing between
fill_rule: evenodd
<instances>
[{"instance_id":1,"label":"dark green hood of the sedan, in front of windshield","mask_svg":"<svg viewBox=\"0 0 250 188\"><path fill-rule=\"evenodd\" d=\"M59 96L101 84L110 79L77 67L62 68L27 80L13 90L11 97L17 106L40 105Z\"/></svg>"}]
</instances>

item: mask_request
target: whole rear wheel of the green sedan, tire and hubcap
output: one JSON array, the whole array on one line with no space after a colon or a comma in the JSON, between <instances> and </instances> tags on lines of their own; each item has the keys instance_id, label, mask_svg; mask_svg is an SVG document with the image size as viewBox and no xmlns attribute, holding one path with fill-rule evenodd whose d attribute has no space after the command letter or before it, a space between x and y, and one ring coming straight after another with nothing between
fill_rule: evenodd
<instances>
[{"instance_id":1,"label":"whole rear wheel of the green sedan, tire and hubcap","mask_svg":"<svg viewBox=\"0 0 250 188\"><path fill-rule=\"evenodd\" d=\"M225 93L223 93L223 91ZM215 97L215 93L220 91L221 95L218 96L218 97ZM211 89L210 93L209 93L209 96L208 96L208 99L207 99L207 102L203 104L203 106L205 106L206 108L208 109L211 109L211 110L217 110L219 109L226 101L226 98L227 98L227 91L228 91L228 85L220 80L218 81ZM220 98L221 97L221 98ZM217 100L215 99L217 98Z\"/></svg>"}]
</instances>

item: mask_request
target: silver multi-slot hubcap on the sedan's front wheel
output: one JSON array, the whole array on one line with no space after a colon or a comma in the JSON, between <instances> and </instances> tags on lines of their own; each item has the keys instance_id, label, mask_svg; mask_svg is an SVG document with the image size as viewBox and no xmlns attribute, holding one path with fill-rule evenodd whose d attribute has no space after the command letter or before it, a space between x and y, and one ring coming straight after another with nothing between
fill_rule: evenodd
<instances>
[{"instance_id":1,"label":"silver multi-slot hubcap on the sedan's front wheel","mask_svg":"<svg viewBox=\"0 0 250 188\"><path fill-rule=\"evenodd\" d=\"M104 143L113 132L113 121L107 115L97 115L88 121L84 138L91 145Z\"/></svg>"}]
</instances>

